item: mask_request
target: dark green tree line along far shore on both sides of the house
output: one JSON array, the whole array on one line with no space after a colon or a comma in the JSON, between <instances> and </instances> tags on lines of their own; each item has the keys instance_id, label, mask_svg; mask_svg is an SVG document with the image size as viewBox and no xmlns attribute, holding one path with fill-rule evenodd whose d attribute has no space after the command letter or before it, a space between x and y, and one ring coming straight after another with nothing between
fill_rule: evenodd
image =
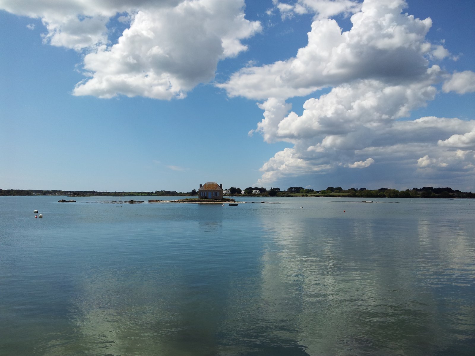
<instances>
[{"instance_id":1,"label":"dark green tree line along far shore on both sides of the house","mask_svg":"<svg viewBox=\"0 0 475 356\"><path fill-rule=\"evenodd\" d=\"M422 187L406 190L397 190L391 188L366 189L366 188L349 188L327 187L324 190L304 189L303 187L289 187L286 190L272 187L267 190L264 187L247 187L243 190L236 187L228 189L230 193L226 196L244 196L244 197L361 197L361 198L474 198L475 193L462 192L449 187L433 188ZM259 191L253 194L253 191ZM70 197L85 196L178 196L189 197L197 195L197 191L193 189L191 192L176 192L170 190L156 190L150 192L108 192L108 191L66 191L66 190L34 190L34 189L1 189L0 196L34 196L34 195L56 195Z\"/></svg>"}]
</instances>

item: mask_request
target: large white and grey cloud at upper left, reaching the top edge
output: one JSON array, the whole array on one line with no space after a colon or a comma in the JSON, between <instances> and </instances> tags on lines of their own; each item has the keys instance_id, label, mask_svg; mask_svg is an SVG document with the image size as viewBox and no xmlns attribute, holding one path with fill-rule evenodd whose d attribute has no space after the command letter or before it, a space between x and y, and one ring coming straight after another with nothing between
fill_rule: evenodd
<instances>
[{"instance_id":1,"label":"large white and grey cloud at upper left, reaching the top edge","mask_svg":"<svg viewBox=\"0 0 475 356\"><path fill-rule=\"evenodd\" d=\"M182 98L214 78L218 60L236 56L260 31L244 18L244 0L0 0L0 8L40 18L54 46L87 51L87 78L75 95ZM131 18L117 43L107 22Z\"/></svg>"}]
</instances>

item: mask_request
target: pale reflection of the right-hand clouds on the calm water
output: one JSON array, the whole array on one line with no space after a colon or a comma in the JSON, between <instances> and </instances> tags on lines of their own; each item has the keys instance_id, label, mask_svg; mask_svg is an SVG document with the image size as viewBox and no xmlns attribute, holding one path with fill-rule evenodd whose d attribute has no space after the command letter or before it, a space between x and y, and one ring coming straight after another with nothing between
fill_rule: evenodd
<instances>
[{"instance_id":1,"label":"pale reflection of the right-hand clouds on the calm water","mask_svg":"<svg viewBox=\"0 0 475 356\"><path fill-rule=\"evenodd\" d=\"M273 231L262 272L268 318L284 310L281 322L295 327L310 355L457 350L447 336L453 320L466 321L458 334L475 332L470 291L460 290L458 300L451 295L457 271L466 282L475 271L467 265L474 225L392 219L385 216L401 206L378 207L365 218L331 217L320 206L298 218L266 216Z\"/></svg>"}]
</instances>

